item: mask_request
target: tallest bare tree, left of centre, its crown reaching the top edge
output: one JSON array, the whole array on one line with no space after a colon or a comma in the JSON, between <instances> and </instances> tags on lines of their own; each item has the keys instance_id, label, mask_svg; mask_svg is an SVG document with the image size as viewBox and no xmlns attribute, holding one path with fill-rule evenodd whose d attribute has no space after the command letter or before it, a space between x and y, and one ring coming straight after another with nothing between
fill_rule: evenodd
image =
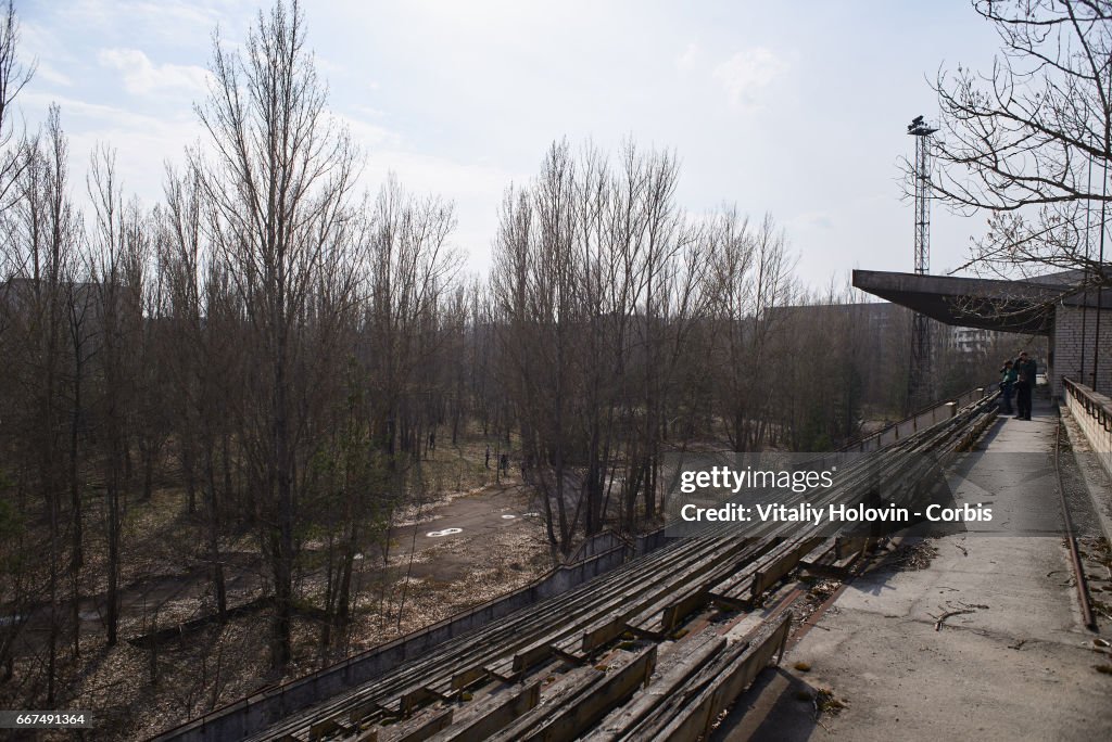
<instances>
[{"instance_id":1,"label":"tallest bare tree, left of centre, its crown reaching the top edge","mask_svg":"<svg viewBox=\"0 0 1112 742\"><path fill-rule=\"evenodd\" d=\"M307 469L299 457L315 367L327 362L310 339L334 340L335 317L315 310L346 311L356 298L348 233L356 157L328 116L296 0L260 12L241 52L218 39L211 69L210 94L197 107L209 151L196 153L195 166L210 239L261 367L250 377L257 408L244 443L275 588L271 663L282 668L291 656L298 472ZM324 308L315 305L320 297L328 299Z\"/></svg>"}]
</instances>

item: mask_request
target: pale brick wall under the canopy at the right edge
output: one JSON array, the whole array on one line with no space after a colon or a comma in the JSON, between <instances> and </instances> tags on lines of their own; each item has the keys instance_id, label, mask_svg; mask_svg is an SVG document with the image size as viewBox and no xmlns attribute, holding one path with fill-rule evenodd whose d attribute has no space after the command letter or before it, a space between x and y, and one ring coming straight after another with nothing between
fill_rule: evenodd
<instances>
[{"instance_id":1,"label":"pale brick wall under the canopy at the right edge","mask_svg":"<svg viewBox=\"0 0 1112 742\"><path fill-rule=\"evenodd\" d=\"M1059 307L1054 315L1051 348L1054 362L1050 382L1055 397L1062 397L1062 377L1094 387L1102 393L1112 392L1112 310L1100 312L1100 350L1096 379L1093 379L1093 348L1096 344L1096 310Z\"/></svg>"}]
</instances>

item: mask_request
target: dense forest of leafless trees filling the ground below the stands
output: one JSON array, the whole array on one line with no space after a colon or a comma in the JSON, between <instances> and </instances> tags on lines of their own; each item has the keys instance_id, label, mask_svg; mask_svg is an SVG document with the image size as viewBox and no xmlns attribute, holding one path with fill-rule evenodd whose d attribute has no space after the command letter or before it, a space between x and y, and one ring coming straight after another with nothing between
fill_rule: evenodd
<instances>
[{"instance_id":1,"label":"dense forest of leafless trees filling the ground below the stands","mask_svg":"<svg viewBox=\"0 0 1112 742\"><path fill-rule=\"evenodd\" d=\"M280 676L299 615L320 656L346 651L366 589L357 560L388 550L391 523L435 485L434 437L505 452L559 559L604 528L656 522L665 451L832 448L903 407L906 318L877 323L846 292L802 292L771 215L685 212L667 150L554 142L535 178L507 184L489 277L466 274L451 203L393 177L361 192L366 153L329 114L305 33L300 8L279 2L241 47L217 39L196 106L205 137L166 166L150 204L128 194L110 143L70 151L59 108L16 126L33 69L8 7L10 708L64 703L85 655L129 639L126 554L157 491L180 494L179 568L203 575L206 615L242 606L232 551L256 559L251 600ZM97 636L82 633L89 610ZM147 681L158 675L153 658Z\"/></svg>"}]
</instances>

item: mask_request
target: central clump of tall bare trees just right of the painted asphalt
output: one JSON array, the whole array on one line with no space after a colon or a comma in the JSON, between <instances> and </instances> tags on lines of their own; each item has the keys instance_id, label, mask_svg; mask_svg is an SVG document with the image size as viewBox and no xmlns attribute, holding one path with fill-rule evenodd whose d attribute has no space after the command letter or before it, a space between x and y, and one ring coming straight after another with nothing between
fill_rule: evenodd
<instances>
[{"instance_id":1,"label":"central clump of tall bare trees just right of the painted asphalt","mask_svg":"<svg viewBox=\"0 0 1112 742\"><path fill-rule=\"evenodd\" d=\"M567 553L610 517L656 515L657 470L703 257L675 204L676 158L549 149L504 202L492 289L503 384L549 540Z\"/></svg>"}]
</instances>

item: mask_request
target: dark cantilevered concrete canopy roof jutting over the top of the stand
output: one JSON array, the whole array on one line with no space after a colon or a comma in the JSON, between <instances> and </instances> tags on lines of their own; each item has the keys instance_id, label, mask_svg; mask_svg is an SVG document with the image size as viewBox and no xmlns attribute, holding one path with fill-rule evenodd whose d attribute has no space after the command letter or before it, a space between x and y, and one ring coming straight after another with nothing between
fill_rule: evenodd
<instances>
[{"instance_id":1,"label":"dark cantilevered concrete canopy roof jutting over the top of the stand","mask_svg":"<svg viewBox=\"0 0 1112 742\"><path fill-rule=\"evenodd\" d=\"M1006 281L886 271L853 272L855 288L940 322L1032 334L1050 334L1054 325L1054 303L1070 291L1069 284L1054 281L1053 277L1048 279Z\"/></svg>"}]
</instances>

